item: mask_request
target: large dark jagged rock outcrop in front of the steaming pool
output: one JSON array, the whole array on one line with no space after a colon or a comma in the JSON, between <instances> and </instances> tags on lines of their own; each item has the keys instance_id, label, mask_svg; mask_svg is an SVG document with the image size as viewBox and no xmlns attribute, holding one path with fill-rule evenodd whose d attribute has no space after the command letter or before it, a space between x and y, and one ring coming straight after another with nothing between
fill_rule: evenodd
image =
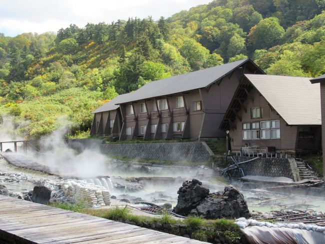
<instances>
[{"instance_id":1,"label":"large dark jagged rock outcrop in front of the steaming pool","mask_svg":"<svg viewBox=\"0 0 325 244\"><path fill-rule=\"evenodd\" d=\"M233 186L223 191L209 193L202 182L184 181L177 191L177 205L173 211L181 215L196 215L207 219L249 217L250 213L243 195Z\"/></svg>"}]
</instances>

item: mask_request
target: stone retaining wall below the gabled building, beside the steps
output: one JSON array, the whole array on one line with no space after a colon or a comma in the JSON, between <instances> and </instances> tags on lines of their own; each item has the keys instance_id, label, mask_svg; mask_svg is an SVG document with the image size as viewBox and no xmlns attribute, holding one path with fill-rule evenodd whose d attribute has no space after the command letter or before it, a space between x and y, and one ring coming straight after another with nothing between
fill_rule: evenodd
<instances>
[{"instance_id":1,"label":"stone retaining wall below the gabled building, beside the steps","mask_svg":"<svg viewBox=\"0 0 325 244\"><path fill-rule=\"evenodd\" d=\"M251 157L239 156L238 162L247 161L252 159ZM233 161L228 157L229 163ZM300 180L299 170L296 166L293 158L265 158L260 157L250 162L239 164L243 169L245 175L258 175L258 176L270 176L270 177L288 177L294 181ZM232 170L231 174L237 176L237 170ZM240 175L241 177L241 175Z\"/></svg>"}]
</instances>

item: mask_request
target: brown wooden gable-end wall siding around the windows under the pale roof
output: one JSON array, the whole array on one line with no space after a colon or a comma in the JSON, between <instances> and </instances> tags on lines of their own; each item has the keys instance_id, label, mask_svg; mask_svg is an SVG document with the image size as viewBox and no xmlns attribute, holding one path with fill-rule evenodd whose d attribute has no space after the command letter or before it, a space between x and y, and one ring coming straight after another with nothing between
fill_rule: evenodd
<instances>
[{"instance_id":1,"label":"brown wooden gable-end wall siding around the windows under the pale roof","mask_svg":"<svg viewBox=\"0 0 325 244\"><path fill-rule=\"evenodd\" d=\"M229 130L231 150L240 150L242 146L273 146L278 150L294 150L296 144L297 126L288 126L280 116L269 107L268 102L258 93L256 89L249 92L248 98L243 102L246 108L238 112L241 121L236 118L232 123L236 129ZM251 119L250 108L263 107L263 118ZM242 139L242 123L260 122L264 120L280 120L280 139Z\"/></svg>"}]
</instances>

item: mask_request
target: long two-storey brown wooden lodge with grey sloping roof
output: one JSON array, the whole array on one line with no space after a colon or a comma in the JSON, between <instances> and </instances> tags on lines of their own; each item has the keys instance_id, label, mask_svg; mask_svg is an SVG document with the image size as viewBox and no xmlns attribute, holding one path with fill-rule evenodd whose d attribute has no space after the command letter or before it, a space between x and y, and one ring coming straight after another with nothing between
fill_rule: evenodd
<instances>
[{"instance_id":1,"label":"long two-storey brown wooden lodge with grey sloping roof","mask_svg":"<svg viewBox=\"0 0 325 244\"><path fill-rule=\"evenodd\" d=\"M95 110L91 135L129 139L225 137L219 128L244 74L264 74L245 59L152 81Z\"/></svg>"}]
</instances>

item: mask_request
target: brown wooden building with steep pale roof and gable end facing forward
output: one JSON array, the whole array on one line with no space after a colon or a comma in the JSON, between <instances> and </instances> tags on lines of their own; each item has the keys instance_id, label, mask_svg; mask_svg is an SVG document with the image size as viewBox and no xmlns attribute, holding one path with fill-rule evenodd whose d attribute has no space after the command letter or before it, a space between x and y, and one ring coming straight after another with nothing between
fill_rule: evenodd
<instances>
[{"instance_id":1,"label":"brown wooden building with steep pale roof and gable end facing forward","mask_svg":"<svg viewBox=\"0 0 325 244\"><path fill-rule=\"evenodd\" d=\"M219 129L232 151L299 154L319 151L320 125L320 91L309 78L245 74Z\"/></svg>"}]
</instances>

